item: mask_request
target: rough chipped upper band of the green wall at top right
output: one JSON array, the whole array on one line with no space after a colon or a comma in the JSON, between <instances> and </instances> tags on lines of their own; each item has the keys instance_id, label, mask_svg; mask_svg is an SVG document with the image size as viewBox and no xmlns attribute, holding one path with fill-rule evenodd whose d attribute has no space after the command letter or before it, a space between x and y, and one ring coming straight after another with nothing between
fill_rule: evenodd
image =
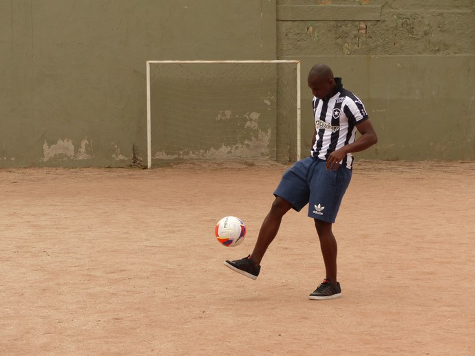
<instances>
[{"instance_id":1,"label":"rough chipped upper band of the green wall at top right","mask_svg":"<svg viewBox=\"0 0 475 356\"><path fill-rule=\"evenodd\" d=\"M317 1L321 10L361 12L360 20L277 21L277 52L288 55L474 54L474 1ZM277 1L278 7L308 1ZM364 19L365 6L379 7L380 18ZM353 9L354 8L354 9ZM277 15L278 16L278 15ZM338 17L337 17L338 18Z\"/></svg>"}]
</instances>

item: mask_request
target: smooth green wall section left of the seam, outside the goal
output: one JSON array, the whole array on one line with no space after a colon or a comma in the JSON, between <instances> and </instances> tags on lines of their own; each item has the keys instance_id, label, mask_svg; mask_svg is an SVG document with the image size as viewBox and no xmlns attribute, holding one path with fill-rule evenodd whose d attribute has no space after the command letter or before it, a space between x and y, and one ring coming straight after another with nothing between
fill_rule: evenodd
<instances>
[{"instance_id":1,"label":"smooth green wall section left of the seam, outside the goal","mask_svg":"<svg viewBox=\"0 0 475 356\"><path fill-rule=\"evenodd\" d=\"M275 59L275 1L0 0L0 167L147 161L146 60Z\"/></svg>"}]
</instances>

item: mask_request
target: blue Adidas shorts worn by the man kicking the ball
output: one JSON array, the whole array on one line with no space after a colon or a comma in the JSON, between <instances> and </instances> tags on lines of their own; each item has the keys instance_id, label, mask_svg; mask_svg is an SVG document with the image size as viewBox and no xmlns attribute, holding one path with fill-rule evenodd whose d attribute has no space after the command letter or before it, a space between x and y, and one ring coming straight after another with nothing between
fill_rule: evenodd
<instances>
[{"instance_id":1,"label":"blue Adidas shorts worn by the man kicking the ball","mask_svg":"<svg viewBox=\"0 0 475 356\"><path fill-rule=\"evenodd\" d=\"M297 212L308 203L308 217L335 223L351 173L341 164L337 170L327 170L324 159L307 157L286 170L274 195L291 203Z\"/></svg>"}]
</instances>

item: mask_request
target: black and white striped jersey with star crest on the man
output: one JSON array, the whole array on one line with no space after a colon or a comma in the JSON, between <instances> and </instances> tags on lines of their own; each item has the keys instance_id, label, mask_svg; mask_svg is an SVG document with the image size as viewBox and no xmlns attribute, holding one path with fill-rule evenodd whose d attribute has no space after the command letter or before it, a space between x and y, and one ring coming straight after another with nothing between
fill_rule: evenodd
<instances>
[{"instance_id":1,"label":"black and white striped jersey with star crest on the man","mask_svg":"<svg viewBox=\"0 0 475 356\"><path fill-rule=\"evenodd\" d=\"M312 157L327 159L333 151L355 142L356 125L368 119L363 102L351 91L344 89L341 78L335 78L338 92L328 100L313 97L315 144ZM340 162L351 169L353 156L348 153Z\"/></svg>"}]
</instances>

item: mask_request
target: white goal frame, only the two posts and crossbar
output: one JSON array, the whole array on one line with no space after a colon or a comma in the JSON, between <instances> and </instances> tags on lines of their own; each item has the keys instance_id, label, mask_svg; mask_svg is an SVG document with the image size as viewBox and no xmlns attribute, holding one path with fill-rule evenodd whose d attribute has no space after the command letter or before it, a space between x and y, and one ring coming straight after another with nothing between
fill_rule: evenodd
<instances>
[{"instance_id":1,"label":"white goal frame, only the two posts and crossbar","mask_svg":"<svg viewBox=\"0 0 475 356\"><path fill-rule=\"evenodd\" d=\"M295 63L297 65L297 160L301 156L301 109L300 109L300 60L147 60L147 168L151 168L151 97L150 97L150 65L151 64L213 64L213 63Z\"/></svg>"}]
</instances>

